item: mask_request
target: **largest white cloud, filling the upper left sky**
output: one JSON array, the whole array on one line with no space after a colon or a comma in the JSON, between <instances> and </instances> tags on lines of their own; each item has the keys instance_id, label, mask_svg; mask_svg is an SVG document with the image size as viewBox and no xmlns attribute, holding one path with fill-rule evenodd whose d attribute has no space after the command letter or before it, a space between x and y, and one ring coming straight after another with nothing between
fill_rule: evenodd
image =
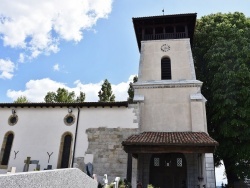
<instances>
[{"instance_id":1,"label":"largest white cloud, filling the upper left sky","mask_svg":"<svg viewBox=\"0 0 250 188\"><path fill-rule=\"evenodd\" d=\"M112 0L1 0L0 39L24 57L59 51L60 40L79 42L83 30L111 12Z\"/></svg>"}]
</instances>

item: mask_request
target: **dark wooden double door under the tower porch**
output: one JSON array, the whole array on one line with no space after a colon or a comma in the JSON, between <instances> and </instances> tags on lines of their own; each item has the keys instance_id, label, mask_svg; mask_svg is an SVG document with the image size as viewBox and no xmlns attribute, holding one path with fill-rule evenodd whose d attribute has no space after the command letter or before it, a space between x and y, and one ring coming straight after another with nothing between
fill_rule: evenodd
<instances>
[{"instance_id":1,"label":"dark wooden double door under the tower porch","mask_svg":"<svg viewBox=\"0 0 250 188\"><path fill-rule=\"evenodd\" d=\"M185 156L181 153L154 154L150 161L149 183L157 188L186 188Z\"/></svg>"}]
</instances>

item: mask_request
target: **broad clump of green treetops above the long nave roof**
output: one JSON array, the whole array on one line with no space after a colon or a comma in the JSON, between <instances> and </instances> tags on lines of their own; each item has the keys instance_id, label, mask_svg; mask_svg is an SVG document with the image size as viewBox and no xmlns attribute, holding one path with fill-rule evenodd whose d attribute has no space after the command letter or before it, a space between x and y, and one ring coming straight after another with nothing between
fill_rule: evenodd
<instances>
[{"instance_id":1,"label":"broad clump of green treetops above the long nave roof","mask_svg":"<svg viewBox=\"0 0 250 188\"><path fill-rule=\"evenodd\" d=\"M75 92L69 92L65 88L58 88L56 92L48 92L44 97L44 101L47 103L54 102L84 102L85 94L80 92L80 95L76 98Z\"/></svg>"}]
</instances>

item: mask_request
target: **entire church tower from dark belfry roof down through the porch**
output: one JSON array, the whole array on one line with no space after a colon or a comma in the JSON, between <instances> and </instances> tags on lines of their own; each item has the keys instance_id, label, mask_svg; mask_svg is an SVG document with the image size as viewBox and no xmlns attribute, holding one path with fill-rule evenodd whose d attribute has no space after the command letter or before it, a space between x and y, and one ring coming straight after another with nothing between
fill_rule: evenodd
<instances>
[{"instance_id":1,"label":"entire church tower from dark belfry roof down through the porch","mask_svg":"<svg viewBox=\"0 0 250 188\"><path fill-rule=\"evenodd\" d=\"M134 102L139 134L123 142L137 160L143 187L215 187L202 82L196 80L192 41L196 13L133 18L140 51Z\"/></svg>"}]
</instances>

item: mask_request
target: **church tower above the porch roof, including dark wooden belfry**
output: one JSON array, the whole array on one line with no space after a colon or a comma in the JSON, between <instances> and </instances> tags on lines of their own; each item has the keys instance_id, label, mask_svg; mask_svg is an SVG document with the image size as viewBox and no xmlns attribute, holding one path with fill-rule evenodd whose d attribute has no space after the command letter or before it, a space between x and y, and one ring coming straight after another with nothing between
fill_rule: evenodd
<instances>
[{"instance_id":1,"label":"church tower above the porch roof, including dark wooden belfry","mask_svg":"<svg viewBox=\"0 0 250 188\"><path fill-rule=\"evenodd\" d=\"M135 102L141 131L207 132L191 46L196 13L133 18L140 51Z\"/></svg>"}]
</instances>

